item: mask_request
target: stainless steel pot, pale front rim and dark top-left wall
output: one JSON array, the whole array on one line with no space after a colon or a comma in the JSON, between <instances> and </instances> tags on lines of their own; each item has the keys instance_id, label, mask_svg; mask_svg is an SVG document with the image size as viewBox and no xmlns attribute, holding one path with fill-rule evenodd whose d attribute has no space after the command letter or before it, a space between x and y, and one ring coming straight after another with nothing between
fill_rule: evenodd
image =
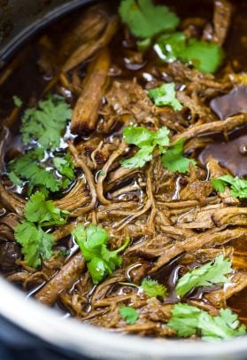
<instances>
[{"instance_id":1,"label":"stainless steel pot, pale front rim and dark top-left wall","mask_svg":"<svg viewBox=\"0 0 247 360\"><path fill-rule=\"evenodd\" d=\"M42 3L42 7L38 7ZM66 12L93 0L0 0L0 64L30 35ZM31 14L31 17L30 17ZM2 37L1 37L2 36ZM247 337L206 343L189 340L155 340L111 333L73 318L62 318L0 278L0 316L52 345L99 359L245 359Z\"/></svg>"}]
</instances>

